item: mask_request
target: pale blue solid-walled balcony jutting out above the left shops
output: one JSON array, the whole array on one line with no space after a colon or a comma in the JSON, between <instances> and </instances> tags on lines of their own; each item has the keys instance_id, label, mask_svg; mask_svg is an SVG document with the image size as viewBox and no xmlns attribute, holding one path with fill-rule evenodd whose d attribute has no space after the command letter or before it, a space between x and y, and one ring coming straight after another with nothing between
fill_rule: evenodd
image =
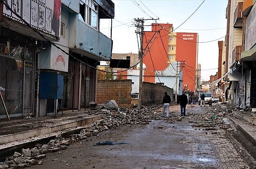
<instances>
[{"instance_id":1,"label":"pale blue solid-walled balcony jutting out above the left shops","mask_svg":"<svg viewBox=\"0 0 256 169\"><path fill-rule=\"evenodd\" d=\"M81 55L97 61L108 61L112 53L112 40L99 30L77 19L73 24L74 30L69 37L69 48Z\"/></svg>"}]
</instances>

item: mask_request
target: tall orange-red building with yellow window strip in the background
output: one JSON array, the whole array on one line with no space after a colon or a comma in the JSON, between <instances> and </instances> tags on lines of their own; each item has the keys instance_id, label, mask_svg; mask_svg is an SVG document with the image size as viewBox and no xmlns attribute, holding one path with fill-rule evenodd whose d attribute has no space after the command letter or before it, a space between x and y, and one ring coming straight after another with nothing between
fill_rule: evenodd
<instances>
[{"instance_id":1,"label":"tall orange-red building with yellow window strip in the background","mask_svg":"<svg viewBox=\"0 0 256 169\"><path fill-rule=\"evenodd\" d=\"M197 42L197 33L176 33L173 32L172 24L152 24L152 31L147 31L144 34L143 48L145 49L145 56L143 63L146 65L147 71L154 71L154 68L156 71L164 71L168 68L170 62L185 61L183 68L175 69L183 71L182 89L195 91L195 71L198 59ZM147 76L144 81L155 83L156 78Z\"/></svg>"}]
</instances>

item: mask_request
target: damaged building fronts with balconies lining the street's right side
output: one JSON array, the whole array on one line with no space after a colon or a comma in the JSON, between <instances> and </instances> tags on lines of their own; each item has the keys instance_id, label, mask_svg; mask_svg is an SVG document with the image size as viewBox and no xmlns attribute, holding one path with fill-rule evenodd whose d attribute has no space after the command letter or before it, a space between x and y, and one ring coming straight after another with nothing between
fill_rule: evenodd
<instances>
[{"instance_id":1,"label":"damaged building fronts with balconies lining the street's right side","mask_svg":"<svg viewBox=\"0 0 256 169\"><path fill-rule=\"evenodd\" d=\"M225 74L218 81L225 79L223 83L225 101L238 105L240 108L256 108L254 100L255 0L229 0L226 18Z\"/></svg>"}]
</instances>

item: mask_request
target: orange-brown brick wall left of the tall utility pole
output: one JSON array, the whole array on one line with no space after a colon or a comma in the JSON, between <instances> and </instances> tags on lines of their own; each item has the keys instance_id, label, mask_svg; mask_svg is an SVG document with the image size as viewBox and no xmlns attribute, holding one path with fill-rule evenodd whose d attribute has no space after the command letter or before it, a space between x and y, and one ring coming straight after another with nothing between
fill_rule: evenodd
<instances>
[{"instance_id":1,"label":"orange-brown brick wall left of the tall utility pole","mask_svg":"<svg viewBox=\"0 0 256 169\"><path fill-rule=\"evenodd\" d=\"M133 108L130 93L131 79L97 81L97 103L115 100L119 107Z\"/></svg>"}]
</instances>

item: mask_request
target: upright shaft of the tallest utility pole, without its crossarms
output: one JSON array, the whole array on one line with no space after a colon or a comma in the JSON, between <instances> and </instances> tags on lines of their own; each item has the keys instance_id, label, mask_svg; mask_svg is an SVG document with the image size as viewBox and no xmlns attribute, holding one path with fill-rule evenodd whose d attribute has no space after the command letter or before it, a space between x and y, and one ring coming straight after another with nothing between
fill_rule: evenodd
<instances>
[{"instance_id":1,"label":"upright shaft of the tallest utility pole, without its crossarms","mask_svg":"<svg viewBox=\"0 0 256 169\"><path fill-rule=\"evenodd\" d=\"M142 85L143 85L143 34L144 34L144 19L140 20L141 23L141 35L140 35L140 78L139 78L139 100L138 108L142 108Z\"/></svg>"}]
</instances>

